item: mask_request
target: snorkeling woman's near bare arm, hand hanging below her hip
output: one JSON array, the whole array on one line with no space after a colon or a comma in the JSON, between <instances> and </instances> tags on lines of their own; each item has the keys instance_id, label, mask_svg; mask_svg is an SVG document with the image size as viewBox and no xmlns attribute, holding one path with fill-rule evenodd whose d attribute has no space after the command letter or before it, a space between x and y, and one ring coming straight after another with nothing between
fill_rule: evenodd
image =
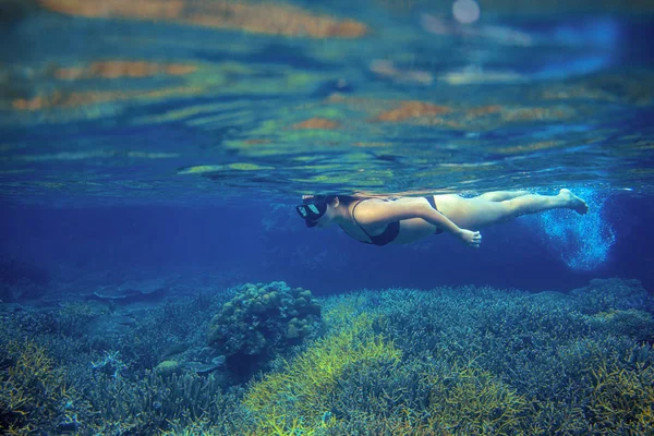
<instances>
[{"instance_id":1,"label":"snorkeling woman's near bare arm, hand hanging below her hip","mask_svg":"<svg viewBox=\"0 0 654 436\"><path fill-rule=\"evenodd\" d=\"M422 218L469 245L479 246L481 243L480 232L461 229L422 198L395 202L367 201L356 208L356 220L364 226L385 226L392 221L411 218Z\"/></svg>"}]
</instances>

